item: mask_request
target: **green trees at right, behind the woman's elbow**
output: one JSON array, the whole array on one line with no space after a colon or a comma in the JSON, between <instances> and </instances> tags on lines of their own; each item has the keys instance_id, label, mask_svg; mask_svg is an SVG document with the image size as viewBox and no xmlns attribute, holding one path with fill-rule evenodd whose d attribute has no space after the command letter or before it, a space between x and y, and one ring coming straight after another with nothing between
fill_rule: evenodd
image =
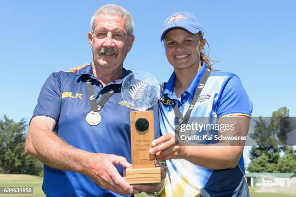
<instances>
[{"instance_id":1,"label":"green trees at right, behind the woman's elbow","mask_svg":"<svg viewBox=\"0 0 296 197\"><path fill-rule=\"evenodd\" d=\"M258 145L250 151L249 172L296 173L296 150L292 146L279 145L277 140L281 132L280 123L286 123L280 120L284 121L285 117L289 117L289 109L281 107L272 113L270 122L262 117L255 121L254 132L249 136Z\"/></svg>"}]
</instances>

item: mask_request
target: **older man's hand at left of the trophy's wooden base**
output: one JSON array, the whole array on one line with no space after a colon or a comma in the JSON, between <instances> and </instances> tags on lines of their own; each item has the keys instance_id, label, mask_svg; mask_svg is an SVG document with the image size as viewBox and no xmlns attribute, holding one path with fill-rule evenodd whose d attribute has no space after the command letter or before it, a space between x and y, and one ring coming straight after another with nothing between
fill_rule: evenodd
<instances>
[{"instance_id":1,"label":"older man's hand at left of the trophy's wooden base","mask_svg":"<svg viewBox=\"0 0 296 197\"><path fill-rule=\"evenodd\" d=\"M87 176L103 189L123 195L139 193L139 190L125 182L125 178L121 177L114 167L115 164L131 167L126 158L114 154L91 153L88 163Z\"/></svg>"}]
</instances>

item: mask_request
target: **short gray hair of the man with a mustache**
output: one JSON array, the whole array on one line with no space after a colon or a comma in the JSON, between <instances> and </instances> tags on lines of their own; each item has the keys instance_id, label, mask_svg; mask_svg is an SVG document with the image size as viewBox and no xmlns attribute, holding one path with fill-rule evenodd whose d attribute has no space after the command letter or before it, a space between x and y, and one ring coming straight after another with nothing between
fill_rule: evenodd
<instances>
[{"instance_id":1,"label":"short gray hair of the man with a mustache","mask_svg":"<svg viewBox=\"0 0 296 197\"><path fill-rule=\"evenodd\" d=\"M120 16L125 20L124 28L127 30L128 35L133 35L133 17L132 15L123 7L115 4L107 4L99 9L96 10L96 12L92 15L90 20L90 31L94 32L96 28L96 18L98 15L111 15L111 16Z\"/></svg>"}]
</instances>

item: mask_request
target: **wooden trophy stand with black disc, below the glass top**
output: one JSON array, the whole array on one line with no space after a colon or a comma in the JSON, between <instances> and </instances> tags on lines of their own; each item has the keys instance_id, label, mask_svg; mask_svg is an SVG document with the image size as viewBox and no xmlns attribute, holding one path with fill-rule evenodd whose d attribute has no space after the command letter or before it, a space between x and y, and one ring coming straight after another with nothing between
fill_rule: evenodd
<instances>
[{"instance_id":1,"label":"wooden trophy stand with black disc, below the glass top","mask_svg":"<svg viewBox=\"0 0 296 197\"><path fill-rule=\"evenodd\" d=\"M154 154L149 154L154 140L153 111L131 111L130 117L132 167L126 168L126 182L161 182L161 167L155 164Z\"/></svg>"}]
</instances>

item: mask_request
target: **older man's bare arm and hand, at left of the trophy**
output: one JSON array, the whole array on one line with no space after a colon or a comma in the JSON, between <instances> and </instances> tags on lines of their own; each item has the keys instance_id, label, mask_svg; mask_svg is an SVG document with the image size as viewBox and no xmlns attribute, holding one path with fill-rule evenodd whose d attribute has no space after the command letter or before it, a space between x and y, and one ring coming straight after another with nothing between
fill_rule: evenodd
<instances>
[{"instance_id":1,"label":"older man's bare arm and hand, at left of the trophy","mask_svg":"<svg viewBox=\"0 0 296 197\"><path fill-rule=\"evenodd\" d=\"M34 117L30 122L25 151L49 167L85 174L104 189L125 195L139 192L133 190L114 167L115 164L130 167L124 157L74 148L53 132L55 125L52 118Z\"/></svg>"}]
</instances>

